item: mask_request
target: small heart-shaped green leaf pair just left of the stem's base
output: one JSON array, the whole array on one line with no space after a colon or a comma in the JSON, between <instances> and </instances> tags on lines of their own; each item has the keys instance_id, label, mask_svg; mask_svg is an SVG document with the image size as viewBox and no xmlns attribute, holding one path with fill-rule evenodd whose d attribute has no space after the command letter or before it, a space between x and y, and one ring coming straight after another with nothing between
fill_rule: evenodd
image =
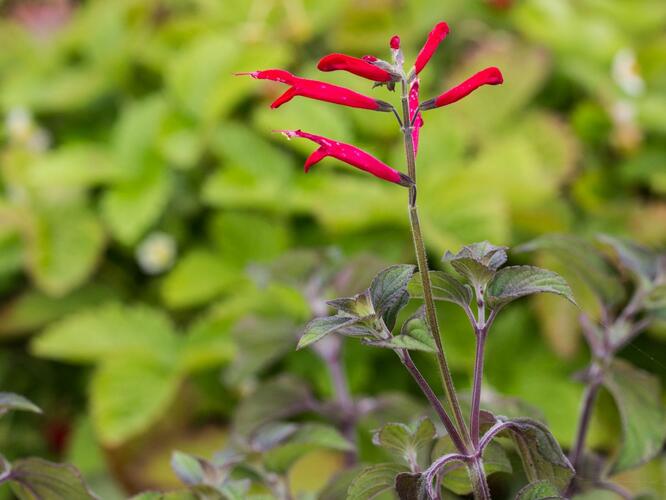
<instances>
[{"instance_id":1,"label":"small heart-shaped green leaf pair just left of the stem's base","mask_svg":"<svg viewBox=\"0 0 666 500\"><path fill-rule=\"evenodd\" d=\"M422 418L414 426L388 423L375 432L372 442L404 462L413 471L427 466L433 440L437 435L429 418Z\"/></svg>"}]
</instances>

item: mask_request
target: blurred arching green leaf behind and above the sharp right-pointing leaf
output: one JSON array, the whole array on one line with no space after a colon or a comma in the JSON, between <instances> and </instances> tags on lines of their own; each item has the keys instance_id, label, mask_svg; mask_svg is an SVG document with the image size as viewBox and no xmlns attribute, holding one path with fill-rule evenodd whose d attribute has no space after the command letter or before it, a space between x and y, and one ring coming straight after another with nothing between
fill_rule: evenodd
<instances>
[{"instance_id":1,"label":"blurred arching green leaf behind and above the sharp right-pointing leaf","mask_svg":"<svg viewBox=\"0 0 666 500\"><path fill-rule=\"evenodd\" d=\"M588 241L569 235L542 236L516 248L518 252L545 250L572 269L604 304L616 304L624 297L618 274Z\"/></svg>"}]
</instances>

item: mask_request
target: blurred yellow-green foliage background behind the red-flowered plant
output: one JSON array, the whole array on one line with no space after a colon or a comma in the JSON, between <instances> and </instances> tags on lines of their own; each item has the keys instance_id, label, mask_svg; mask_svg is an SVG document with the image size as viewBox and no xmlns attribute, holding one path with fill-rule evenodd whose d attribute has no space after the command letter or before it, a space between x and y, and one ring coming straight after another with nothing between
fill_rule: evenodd
<instances>
[{"instance_id":1,"label":"blurred yellow-green foliage background behind the red-flowered plant","mask_svg":"<svg viewBox=\"0 0 666 500\"><path fill-rule=\"evenodd\" d=\"M301 98L270 110L282 85L232 74L281 67L395 101L317 75L316 61L387 58L393 34L409 61L439 20L451 34L424 97L488 65L505 83L424 117L433 265L464 243L548 232L663 247L663 0L0 0L0 387L45 412L0 420L0 451L70 461L103 498L123 498L176 486L171 450L222 448L238 401L267 377L330 393L316 356L292 352L311 315L302 291L269 270L302 249L296 260L411 262L406 195L331 160L305 176L312 145L271 131L303 128L402 169L398 129ZM441 312L464 387L473 336ZM488 345L489 386L538 407L563 446L587 358L576 316L556 298L525 301ZM664 379L665 341L653 328L622 355ZM417 396L390 353L349 343L344 355L354 393ZM613 449L618 435L604 396L591 443ZM295 489L340 464L308 457ZM663 456L622 481L666 495Z\"/></svg>"}]
</instances>

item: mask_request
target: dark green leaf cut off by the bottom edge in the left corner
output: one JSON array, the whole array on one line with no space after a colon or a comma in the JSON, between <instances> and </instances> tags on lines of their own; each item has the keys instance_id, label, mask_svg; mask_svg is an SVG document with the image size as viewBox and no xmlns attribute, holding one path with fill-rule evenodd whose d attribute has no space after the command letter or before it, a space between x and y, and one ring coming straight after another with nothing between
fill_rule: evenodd
<instances>
[{"instance_id":1,"label":"dark green leaf cut off by the bottom edge in the left corner","mask_svg":"<svg viewBox=\"0 0 666 500\"><path fill-rule=\"evenodd\" d=\"M71 465L26 458L12 464L12 490L20 500L89 500L97 496L88 489L81 473Z\"/></svg>"}]
</instances>

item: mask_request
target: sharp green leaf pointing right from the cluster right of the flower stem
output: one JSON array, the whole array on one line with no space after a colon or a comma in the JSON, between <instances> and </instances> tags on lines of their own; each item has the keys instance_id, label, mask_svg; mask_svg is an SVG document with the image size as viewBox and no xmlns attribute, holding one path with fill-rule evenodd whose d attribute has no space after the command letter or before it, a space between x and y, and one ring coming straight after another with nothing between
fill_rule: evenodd
<instances>
[{"instance_id":1,"label":"sharp green leaf pointing right from the cluster right of the flower stem","mask_svg":"<svg viewBox=\"0 0 666 500\"><path fill-rule=\"evenodd\" d=\"M488 284L486 300L493 309L534 293L562 295L576 304L571 288L559 274L534 266L511 266L500 269Z\"/></svg>"}]
</instances>

